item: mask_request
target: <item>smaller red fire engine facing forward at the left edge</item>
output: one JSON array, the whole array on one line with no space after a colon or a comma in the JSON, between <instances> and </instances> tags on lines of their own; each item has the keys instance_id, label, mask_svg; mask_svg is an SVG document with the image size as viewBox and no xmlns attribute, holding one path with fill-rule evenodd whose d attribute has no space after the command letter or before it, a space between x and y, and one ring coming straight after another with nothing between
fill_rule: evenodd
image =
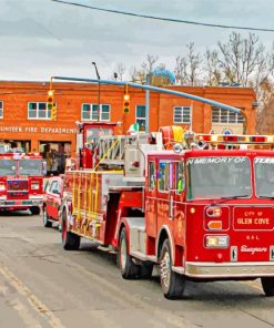
<instances>
[{"instance_id":1,"label":"smaller red fire engine facing forward at the left edge","mask_svg":"<svg viewBox=\"0 0 274 328\"><path fill-rule=\"evenodd\" d=\"M26 154L21 148L0 145L0 211L30 209L40 213L43 201L43 171L38 154Z\"/></svg>"}]
</instances>

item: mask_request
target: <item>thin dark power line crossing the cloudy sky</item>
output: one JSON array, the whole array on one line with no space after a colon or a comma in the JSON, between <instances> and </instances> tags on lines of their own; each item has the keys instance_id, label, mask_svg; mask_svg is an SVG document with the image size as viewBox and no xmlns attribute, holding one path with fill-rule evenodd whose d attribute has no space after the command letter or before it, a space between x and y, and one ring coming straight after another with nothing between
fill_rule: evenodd
<instances>
[{"instance_id":1,"label":"thin dark power line crossing the cloudy sky","mask_svg":"<svg viewBox=\"0 0 274 328\"><path fill-rule=\"evenodd\" d=\"M69 4L69 6L77 6L77 7L82 7L82 8L87 8L87 9L98 10L98 11L112 12L112 13L118 13L118 14L132 16L132 17L138 17L138 18L146 18L146 19L153 19L153 20L161 20L161 21L168 21L168 22L174 22L174 23L184 23L184 24L202 25L202 27L207 27L207 28L220 28L220 29L274 32L274 29L263 29L263 28L260 29L260 28L250 28L250 27L213 24L213 23L204 23L204 22L197 22L197 21L189 21L189 20L181 20L181 19L173 19L173 18L140 14L140 13L122 11L122 10L105 9L105 8L99 8L99 7L93 7L93 6L88 6L88 4L82 4L82 3L71 2L71 1L63 1L63 0L51 0L51 1L63 3L63 4Z\"/></svg>"}]
</instances>

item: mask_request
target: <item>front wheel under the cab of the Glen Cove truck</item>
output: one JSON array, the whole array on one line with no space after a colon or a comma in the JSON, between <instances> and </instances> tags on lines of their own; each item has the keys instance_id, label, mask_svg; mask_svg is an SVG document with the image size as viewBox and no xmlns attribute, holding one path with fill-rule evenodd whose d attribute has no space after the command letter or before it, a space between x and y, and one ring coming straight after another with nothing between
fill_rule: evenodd
<instances>
[{"instance_id":1,"label":"front wheel under the cab of the Glen Cove truck","mask_svg":"<svg viewBox=\"0 0 274 328\"><path fill-rule=\"evenodd\" d=\"M165 239L160 256L160 281L164 297L177 299L183 297L185 278L172 271L170 240Z\"/></svg>"}]
</instances>

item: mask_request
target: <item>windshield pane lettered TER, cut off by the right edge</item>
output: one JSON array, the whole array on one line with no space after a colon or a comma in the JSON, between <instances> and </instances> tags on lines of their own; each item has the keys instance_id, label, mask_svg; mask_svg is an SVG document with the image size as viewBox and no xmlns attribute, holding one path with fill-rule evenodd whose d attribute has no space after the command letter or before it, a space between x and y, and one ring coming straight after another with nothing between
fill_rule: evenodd
<instances>
[{"instance_id":1,"label":"windshield pane lettered TER, cut off by the right edge","mask_svg":"<svg viewBox=\"0 0 274 328\"><path fill-rule=\"evenodd\" d=\"M274 157L255 157L255 188L257 197L274 197Z\"/></svg>"}]
</instances>

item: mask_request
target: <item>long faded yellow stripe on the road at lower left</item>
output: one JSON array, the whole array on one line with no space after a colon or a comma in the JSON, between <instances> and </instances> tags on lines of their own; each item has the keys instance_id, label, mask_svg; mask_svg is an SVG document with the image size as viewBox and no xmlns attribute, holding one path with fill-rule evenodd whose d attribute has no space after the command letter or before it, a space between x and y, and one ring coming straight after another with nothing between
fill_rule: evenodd
<instances>
[{"instance_id":1,"label":"long faded yellow stripe on the road at lower left","mask_svg":"<svg viewBox=\"0 0 274 328\"><path fill-rule=\"evenodd\" d=\"M35 295L33 295L10 269L4 266L0 266L0 273L19 291L19 294L28 299L30 306L39 312L39 315L42 316L51 327L64 328L52 311ZM22 310L22 307L18 307L16 309ZM23 312L24 311L21 311L21 315L23 315Z\"/></svg>"}]
</instances>

